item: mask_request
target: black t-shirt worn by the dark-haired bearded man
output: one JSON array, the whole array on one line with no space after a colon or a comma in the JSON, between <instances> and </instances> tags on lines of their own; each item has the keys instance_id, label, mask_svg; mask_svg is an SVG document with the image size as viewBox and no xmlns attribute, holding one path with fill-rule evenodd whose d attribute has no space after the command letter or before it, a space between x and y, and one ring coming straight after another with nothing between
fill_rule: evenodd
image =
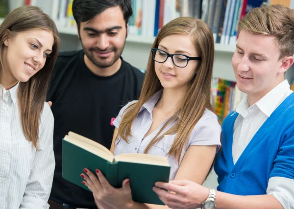
<instances>
[{"instance_id":1,"label":"black t-shirt worn by the dark-haired bearded man","mask_svg":"<svg viewBox=\"0 0 294 209\"><path fill-rule=\"evenodd\" d=\"M122 66L115 74L101 77L87 68L83 50L58 55L47 95L54 115L56 161L50 196L68 205L96 206L91 192L62 178L62 138L73 131L110 149L113 119L141 92L144 73L121 59Z\"/></svg>"}]
</instances>

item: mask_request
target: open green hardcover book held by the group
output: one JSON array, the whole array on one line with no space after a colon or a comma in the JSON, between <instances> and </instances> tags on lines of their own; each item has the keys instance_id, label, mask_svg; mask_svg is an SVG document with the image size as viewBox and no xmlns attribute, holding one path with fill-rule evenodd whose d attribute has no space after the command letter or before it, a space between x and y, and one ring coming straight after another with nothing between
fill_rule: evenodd
<instances>
[{"instance_id":1,"label":"open green hardcover book held by the group","mask_svg":"<svg viewBox=\"0 0 294 209\"><path fill-rule=\"evenodd\" d=\"M62 177L87 190L80 174L88 168L93 173L99 169L108 182L122 187L130 179L135 202L164 205L152 190L155 182L169 182L170 165L166 157L147 154L121 154L116 157L104 146L73 132L62 140Z\"/></svg>"}]
</instances>

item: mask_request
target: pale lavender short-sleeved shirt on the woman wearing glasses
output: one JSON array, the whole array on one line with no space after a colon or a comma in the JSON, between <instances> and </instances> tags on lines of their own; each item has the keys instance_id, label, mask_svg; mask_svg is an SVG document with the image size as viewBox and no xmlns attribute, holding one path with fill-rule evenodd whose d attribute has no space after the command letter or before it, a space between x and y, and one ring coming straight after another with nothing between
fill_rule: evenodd
<instances>
[{"instance_id":1,"label":"pale lavender short-sleeved shirt on the woman wearing glasses","mask_svg":"<svg viewBox=\"0 0 294 209\"><path fill-rule=\"evenodd\" d=\"M162 95L162 91L155 93L140 109L138 116L135 118L131 131L132 137L129 138L129 143L126 143L122 138L118 138L115 142L114 156L125 154L125 153L144 153L144 150L150 143L150 141L156 136L160 131L163 125L168 119L166 119L153 133L148 135L144 140L144 136L151 127L152 124L152 110L156 105L157 101ZM116 128L119 128L120 122L122 120L124 110L129 107L131 104L137 101L129 102L126 106L122 108L119 113L119 116L113 121L113 124ZM169 130L173 123L170 123L164 130L163 133ZM157 143L155 143L148 154L158 155L166 157L170 148L172 147L173 140L175 139L176 134L174 135L165 135ZM196 123L187 145L183 148L180 162L177 163L172 156L167 156L168 161L171 165L170 180L175 178L176 172L179 168L186 151L189 146L192 145L218 145L218 149L221 147L221 126L218 122L218 117L211 111L205 110L203 116Z\"/></svg>"}]
</instances>

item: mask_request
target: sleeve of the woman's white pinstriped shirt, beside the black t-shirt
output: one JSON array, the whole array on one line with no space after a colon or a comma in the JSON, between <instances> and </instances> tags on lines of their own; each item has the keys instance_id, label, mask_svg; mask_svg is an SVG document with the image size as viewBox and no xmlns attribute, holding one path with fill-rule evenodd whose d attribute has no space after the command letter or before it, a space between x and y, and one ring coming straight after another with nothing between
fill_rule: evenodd
<instances>
[{"instance_id":1,"label":"sleeve of the woman's white pinstriped shirt, beside the black t-shirt","mask_svg":"<svg viewBox=\"0 0 294 209\"><path fill-rule=\"evenodd\" d=\"M53 125L53 114L45 103L39 130L39 150L34 157L20 209L49 209L48 199L55 168Z\"/></svg>"}]
</instances>

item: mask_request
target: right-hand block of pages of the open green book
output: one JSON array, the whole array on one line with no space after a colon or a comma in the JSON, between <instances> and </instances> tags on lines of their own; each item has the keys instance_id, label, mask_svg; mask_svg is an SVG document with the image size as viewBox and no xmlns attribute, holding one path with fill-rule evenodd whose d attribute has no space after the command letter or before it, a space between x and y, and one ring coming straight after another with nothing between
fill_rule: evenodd
<instances>
[{"instance_id":1,"label":"right-hand block of pages of the open green book","mask_svg":"<svg viewBox=\"0 0 294 209\"><path fill-rule=\"evenodd\" d=\"M168 159L166 157L148 155L148 154L142 154L142 153L130 153L130 154L117 155L115 157L115 161L170 166Z\"/></svg>"}]
</instances>

